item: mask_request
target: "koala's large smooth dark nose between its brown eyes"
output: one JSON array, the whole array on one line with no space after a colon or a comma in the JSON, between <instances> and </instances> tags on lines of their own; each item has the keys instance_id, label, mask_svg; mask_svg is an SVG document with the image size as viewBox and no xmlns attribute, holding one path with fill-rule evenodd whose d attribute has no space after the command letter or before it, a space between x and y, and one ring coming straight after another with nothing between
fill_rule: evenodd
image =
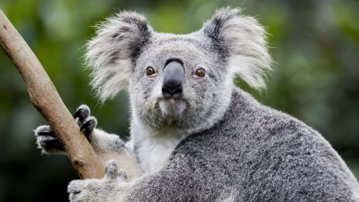
<instances>
[{"instance_id":1,"label":"koala's large smooth dark nose between its brown eyes","mask_svg":"<svg viewBox=\"0 0 359 202\"><path fill-rule=\"evenodd\" d=\"M182 94L182 81L184 69L182 64L176 61L168 63L163 70L162 94L165 98L177 99Z\"/></svg>"}]
</instances>

